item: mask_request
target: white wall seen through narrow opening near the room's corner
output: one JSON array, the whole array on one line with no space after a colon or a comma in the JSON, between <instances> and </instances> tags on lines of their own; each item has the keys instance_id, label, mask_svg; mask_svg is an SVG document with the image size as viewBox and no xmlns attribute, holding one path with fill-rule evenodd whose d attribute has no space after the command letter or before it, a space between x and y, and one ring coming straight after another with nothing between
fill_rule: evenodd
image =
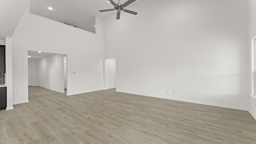
<instances>
[{"instance_id":1,"label":"white wall seen through narrow opening near the room's corner","mask_svg":"<svg viewBox=\"0 0 256 144\"><path fill-rule=\"evenodd\" d=\"M105 89L116 88L116 58L105 60Z\"/></svg>"}]
</instances>

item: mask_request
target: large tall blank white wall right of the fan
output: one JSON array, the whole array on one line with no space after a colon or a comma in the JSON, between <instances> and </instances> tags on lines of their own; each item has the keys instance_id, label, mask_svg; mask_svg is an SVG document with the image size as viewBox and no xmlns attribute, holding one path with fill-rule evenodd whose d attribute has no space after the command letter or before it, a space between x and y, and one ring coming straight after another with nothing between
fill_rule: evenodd
<instances>
[{"instance_id":1,"label":"large tall blank white wall right of the fan","mask_svg":"<svg viewBox=\"0 0 256 144\"><path fill-rule=\"evenodd\" d=\"M104 20L117 91L248 108L248 1L144 0L129 10L138 15Z\"/></svg>"}]
</instances>

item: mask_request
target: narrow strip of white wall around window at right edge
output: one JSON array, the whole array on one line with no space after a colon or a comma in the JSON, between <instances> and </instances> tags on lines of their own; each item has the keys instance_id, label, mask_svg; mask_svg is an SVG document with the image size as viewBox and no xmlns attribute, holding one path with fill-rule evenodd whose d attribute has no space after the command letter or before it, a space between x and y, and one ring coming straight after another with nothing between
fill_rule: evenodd
<instances>
[{"instance_id":1,"label":"narrow strip of white wall around window at right edge","mask_svg":"<svg viewBox=\"0 0 256 144\"><path fill-rule=\"evenodd\" d=\"M249 40L248 41L249 41L250 44L251 44L252 38L254 38L256 36L256 9L255 9L255 7L256 7L256 1L255 0L249 0L249 3L248 3L248 8L249 8ZM251 45L249 46L249 52L250 52L250 56L252 56L252 54L251 54ZM252 76L251 63L250 63L250 76ZM256 73L255 72L254 72L254 78L256 78ZM256 83L256 79L254 79L254 82ZM251 79L250 79L250 84L252 84ZM254 89L255 89L255 86L254 86ZM249 110L250 110L251 114L254 116L254 118L256 119L256 96L249 96Z\"/></svg>"}]
</instances>

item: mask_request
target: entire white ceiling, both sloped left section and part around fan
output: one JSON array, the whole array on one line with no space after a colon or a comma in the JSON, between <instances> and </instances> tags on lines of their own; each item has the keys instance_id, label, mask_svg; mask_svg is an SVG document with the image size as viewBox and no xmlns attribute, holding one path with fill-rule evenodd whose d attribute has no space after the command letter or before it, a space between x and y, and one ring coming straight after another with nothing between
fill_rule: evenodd
<instances>
[{"instance_id":1,"label":"entire white ceiling, both sloped left section and part around fan","mask_svg":"<svg viewBox=\"0 0 256 144\"><path fill-rule=\"evenodd\" d=\"M120 3L124 4L126 1L120 0ZM141 1L143 0L136 0L130 6ZM118 0L114 2L118 3ZM95 16L104 19L116 14L116 11L99 12L114 8L107 0L0 0L0 39L4 40L5 36L12 37L29 3L30 12L33 14L68 23L89 32L95 32ZM48 7L52 7L52 10ZM129 6L127 8L133 10Z\"/></svg>"}]
</instances>

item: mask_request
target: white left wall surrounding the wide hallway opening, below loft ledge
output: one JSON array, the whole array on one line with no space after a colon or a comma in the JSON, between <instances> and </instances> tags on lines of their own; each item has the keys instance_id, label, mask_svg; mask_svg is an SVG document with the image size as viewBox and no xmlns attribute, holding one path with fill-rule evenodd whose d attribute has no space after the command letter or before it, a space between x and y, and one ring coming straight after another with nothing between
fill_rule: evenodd
<instances>
[{"instance_id":1,"label":"white left wall surrounding the wide hallway opening, below loft ledge","mask_svg":"<svg viewBox=\"0 0 256 144\"><path fill-rule=\"evenodd\" d=\"M12 36L13 101L28 100L28 50L68 55L68 95L104 89L103 20L93 34L28 12Z\"/></svg>"}]
</instances>

